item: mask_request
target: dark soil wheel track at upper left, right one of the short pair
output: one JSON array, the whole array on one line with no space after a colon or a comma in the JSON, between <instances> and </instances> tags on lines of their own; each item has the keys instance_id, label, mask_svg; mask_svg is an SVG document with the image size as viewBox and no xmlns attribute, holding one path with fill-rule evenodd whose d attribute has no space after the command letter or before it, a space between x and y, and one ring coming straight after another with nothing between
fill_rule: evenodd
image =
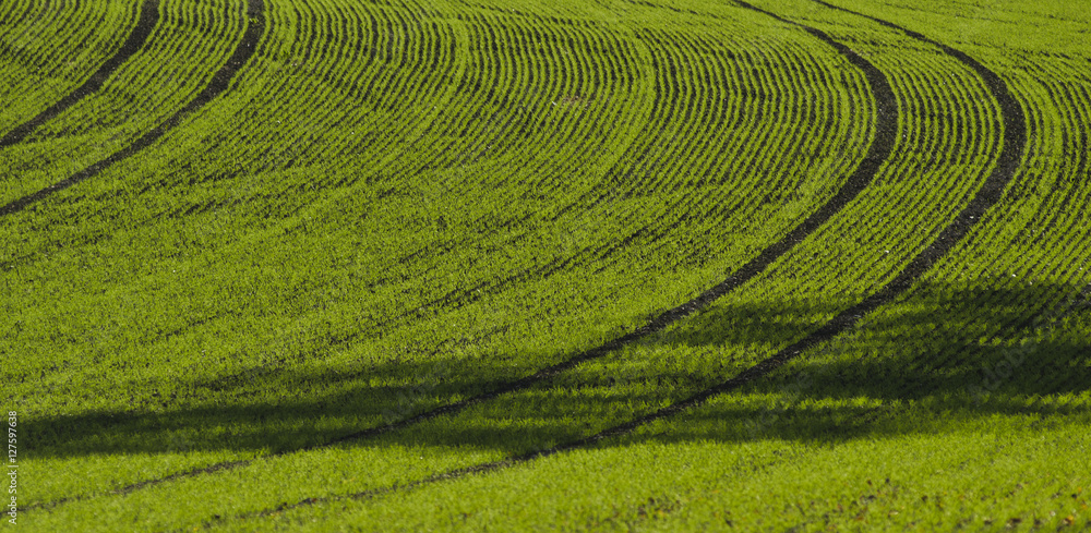
<instances>
[{"instance_id":1,"label":"dark soil wheel track at upper left, right one of the short pair","mask_svg":"<svg viewBox=\"0 0 1091 533\"><path fill-rule=\"evenodd\" d=\"M193 98L193 100L124 149L115 153L106 159L103 159L101 161L98 161L58 183L0 207L0 217L19 213L35 202L38 202L59 191L63 191L84 180L94 178L115 163L121 162L139 154L141 150L158 141L159 137L164 136L167 132L178 126L178 124L180 124L185 117L201 109L205 104L208 104L214 98L219 96L220 93L227 90L231 78L235 77L235 74L242 69L242 65L245 64L247 61L250 60L250 57L257 50L257 41L261 39L262 34L265 33L265 4L263 3L263 0L247 1L249 4L247 15L251 22L247 25L247 32L243 34L242 40L239 41L239 46L235 49L235 53L228 58L227 62L224 63L224 66L221 66L219 71L213 74L212 81L203 90L201 90L200 94L197 94L196 97Z\"/></svg>"}]
</instances>

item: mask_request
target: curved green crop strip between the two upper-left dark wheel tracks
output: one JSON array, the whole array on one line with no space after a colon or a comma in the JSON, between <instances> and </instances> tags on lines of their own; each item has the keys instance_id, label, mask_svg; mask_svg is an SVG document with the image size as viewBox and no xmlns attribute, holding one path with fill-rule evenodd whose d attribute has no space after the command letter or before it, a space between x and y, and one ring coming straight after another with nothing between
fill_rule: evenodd
<instances>
[{"instance_id":1,"label":"curved green crop strip between the two upper-left dark wheel tracks","mask_svg":"<svg viewBox=\"0 0 1091 533\"><path fill-rule=\"evenodd\" d=\"M99 90L71 102L39 124L22 143L7 147L3 154L9 165L4 169L2 213L10 216L17 206L33 202L32 197L52 194L49 191L56 192L58 183L81 181L77 177L89 167L108 166L105 161L118 157L149 130L161 129L171 116L184 116L187 104L207 92L207 84L217 83L214 81L217 70L223 68L243 33L244 22L238 19L244 16L244 5L231 0L218 1L233 9L211 10L188 0L163 0L159 24L144 46L120 63ZM227 20L221 19L225 16ZM215 23L220 31L197 34L199 28L189 24L193 20ZM240 27L232 27L236 25ZM184 45L177 46L176 39ZM192 54L200 59L182 61ZM170 66L170 63L181 65ZM149 83L163 85L158 90L143 90ZM53 160L47 157L50 153L68 157Z\"/></svg>"}]
</instances>

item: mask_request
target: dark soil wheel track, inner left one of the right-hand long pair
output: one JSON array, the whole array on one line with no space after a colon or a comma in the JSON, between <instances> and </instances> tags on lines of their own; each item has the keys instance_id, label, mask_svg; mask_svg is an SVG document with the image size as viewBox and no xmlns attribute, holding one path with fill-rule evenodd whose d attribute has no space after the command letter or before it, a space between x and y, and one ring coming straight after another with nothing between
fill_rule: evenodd
<instances>
[{"instance_id":1,"label":"dark soil wheel track, inner left one of the right-hand long pair","mask_svg":"<svg viewBox=\"0 0 1091 533\"><path fill-rule=\"evenodd\" d=\"M751 9L755 9L753 7L750 7L748 4L746 7L748 7ZM688 302L685 302L682 305L679 305L679 306L676 306L674 308L671 308L671 310L668 310L668 311L663 312L662 314L660 314L659 316L657 316L656 318L654 318L648 324L642 326L640 328L638 328L638 329L636 329L636 330L634 330L634 331L632 331L630 334L626 334L626 335L624 335L622 337L613 339L613 340L607 342L606 344L599 346L597 348L592 348L592 349L590 349L588 351L585 351L585 352L580 352L580 353L578 353L578 354L570 358L568 360L566 360L566 361L564 361L562 363L558 363L558 364L555 364L553 366L549 366L547 368L538 371L537 373L535 373L535 374L532 374L530 376L527 376L527 377L525 377L523 379L518 379L516 381L512 381L512 383L508 383L506 385L503 385L503 386L499 387L497 389L492 390L490 392L485 392L485 393L482 393L482 395L479 395L479 396L475 396L472 398L468 398L468 399L463 400L463 401L458 401L458 402L455 402L455 403L443 405L443 407L433 409L431 411L418 414L416 416L412 416L412 417L409 417L409 419L406 419L406 420L403 420L403 421L399 421L399 422L395 422L395 423L389 424L389 425L379 426L379 427L372 427L372 428L369 428L369 429L364 429L364 431L361 431L361 432L357 432L357 433L352 433L352 434L346 435L344 437L340 437L340 438L338 438L336 440L333 440L333 441L329 441L329 443L325 443L325 444L322 444L322 445L315 445L315 446L309 446L309 447L301 448L301 449L293 450L293 451L285 451L285 452L281 452L281 453L275 453L275 455L272 455L272 456L267 456L266 458L275 458L275 457L280 457L280 456L287 456L289 453L296 453L296 452L301 452L301 451L309 451L309 450L312 450L312 449L323 448L323 447L326 447L326 446L332 446L332 445L335 445L335 444L338 444L338 443L343 443L343 441L347 441L347 440L371 438L371 437L375 437L375 436L379 436L379 435L382 435L382 434L385 434L385 433L389 433L389 432L393 432L393 431L397 431L397 429L401 429L401 428L405 428L405 427L408 427L408 426L412 426L415 424L419 424L421 422L424 422L424 421L428 421L428 420L431 420L431 419L435 419L435 417L441 416L441 415L454 414L454 413L457 413L457 412L459 412L459 411L461 411L461 410L464 410L464 409L466 409L466 408L468 408L470 405L473 405L476 403L480 403L480 402L483 402L485 400L490 400L490 399L496 398L496 397L499 397L501 395L505 395L505 393L508 393L508 392L514 392L514 391L517 391L517 390L523 390L523 389L529 388L531 386L535 386L537 384L547 381L547 380L553 378L554 376L556 376L556 375L559 375L559 374L561 374L561 373L563 373L565 371L568 371L568 370L575 367L576 365L579 365L580 363L584 363L586 361L590 361L590 360L594 360L594 359L597 359L597 358L601 358L601 356L603 356L603 355L606 355L606 354L608 354L608 353L610 353L610 352L612 352L614 350L618 350L619 348L621 348L621 347L623 347L623 346L625 346L625 344L627 344L630 342L634 342L634 341L636 341L638 339L642 339L642 338L644 338L644 337L646 337L648 335L652 335L652 334L659 332L659 331L663 330L664 328L667 328L668 326L670 326L671 324L673 324L673 323L675 323L678 320L681 320L681 319L683 319L683 318L685 318L687 316L691 316L691 315L693 315L695 313L698 313L699 311L704 310L705 307L707 307L708 305L710 305L712 302L715 302L719 298L723 296L724 294L731 292L734 289L738 289L742 284L744 284L747 281L750 281L751 279L753 279L758 274L762 274L762 271L764 271L770 264L772 264L775 261L777 261L782 255L784 255L790 250L792 250L799 242L803 241L807 235L810 235L815 230L817 230L819 227L822 227L824 223L826 223L827 220L829 220L834 215L836 215L838 211L840 211L846 205L848 205L850 202L852 202L852 199L855 198L856 195L859 195L861 191L863 191L865 187L867 187L868 184L871 184L872 180L875 178L875 174L878 173L879 167L890 156L890 153L894 150L895 138L896 138L897 129L898 129L898 105L897 105L897 98L894 95L894 89L890 88L890 84L889 84L889 82L887 82L886 75L883 74L883 72L880 72L878 69L876 69L875 65L871 64L870 62L867 62L867 60L865 60L864 58L860 57L856 52L854 52L851 49L849 49L849 47L847 47L847 46L844 46L844 45L842 45L840 43L835 41L826 33L824 33L824 32L822 32L819 29L816 29L816 28L812 28L812 27L804 26L804 25L795 23L795 22L791 22L791 21L781 19L781 17L776 16L776 15L771 15L771 16L775 16L778 21L781 21L783 23L787 23L787 24L800 27L800 28L806 31L807 33L810 33L811 35L817 37L823 43L826 43L829 46L834 47L850 63L852 63L853 65L855 65L856 68L859 68L861 71L863 71L865 77L867 78L867 83L871 86L872 96L873 96L873 98L875 98L875 106L876 106L875 140L872 142L872 145L871 145L871 147L867 150L867 155L864 157L864 160L860 163L860 167L858 167L856 170L852 173L852 175L849 177L849 179L846 181L844 185L837 193L837 195L835 195L832 198L830 198L817 211L815 211L810 217L807 217L806 220L804 220L794 230L792 230L790 233L788 233L788 235L786 235L780 241L778 241L778 242L774 243L772 245L770 245L769 247L767 247L757 257L755 257L754 259L752 259L750 263L743 265L742 268L740 268L738 271L735 271L734 274L732 274L728 279L723 280L722 282L720 282L716 287L712 287L711 289L703 292L697 298L695 298L695 299L693 299L693 300L691 300ZM567 447L574 447L574 446L580 446L580 444L566 445L566 447L563 448L563 449L567 449ZM560 451L561 449L562 448L556 448L558 451ZM541 455L541 453L544 453L544 452L536 452L536 453ZM146 487L149 487L149 486L158 485L160 483L166 483L168 481L177 480L177 479L180 479L180 477L189 477L189 476L195 476L195 475L201 475L201 474L206 474L206 473L212 473L212 472L217 472L217 471L223 471L223 470L230 470L230 469L235 469L235 468L239 468L239 467L245 467L245 465L250 464L251 462L253 462L253 460L229 461L229 462L216 463L216 464L213 464L211 467L203 468L203 469L191 470L191 471L187 471L187 472L171 474L171 475L169 475L167 477L160 477L160 479L156 479L156 480L147 480L147 481L143 481L143 482L140 482L140 483L135 483L135 484L132 484L132 485L119 488L119 489L117 489L117 490L115 490L115 492L112 492L110 494L113 494L113 495L125 495L125 494L130 494L132 492L142 489L142 488L146 488ZM463 472L463 473L478 471L478 470L481 470L481 469L482 469L481 467L472 467L470 469L466 469L466 471ZM488 470L488 469L485 469L485 470ZM461 471L459 471L459 472L461 472ZM454 475L461 475L461 474L454 474L454 473L442 474L441 476L437 476L435 479L429 479L429 480L416 482L416 483L407 485L407 486L416 486L416 485L419 485L419 484L422 484L422 483L430 483L432 481L439 481L441 479L447 479L447 477L451 477L451 476L454 476ZM391 490L391 489L384 489L383 492L388 492L388 490ZM50 501L50 502L45 502L45 504L40 504L40 505L36 505L36 506L31 506L28 508L24 508L24 511L27 510L27 509L36 509L36 508L51 508L51 507L56 507L56 506L58 506L60 504L63 504L63 502L67 502L67 501L73 500L73 499L83 499L83 498L67 498L67 499L61 499L61 500L55 500L55 501ZM310 499L307 502L313 504L313 502L316 502L316 501L319 501L319 500L316 500L316 499ZM300 505L302 505L302 504L300 504Z\"/></svg>"}]
</instances>

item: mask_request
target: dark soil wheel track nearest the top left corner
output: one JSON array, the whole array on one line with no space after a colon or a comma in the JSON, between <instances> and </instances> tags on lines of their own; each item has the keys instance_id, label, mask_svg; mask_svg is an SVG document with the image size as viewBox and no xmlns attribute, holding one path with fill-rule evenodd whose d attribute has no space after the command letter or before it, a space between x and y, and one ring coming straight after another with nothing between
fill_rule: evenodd
<instances>
[{"instance_id":1,"label":"dark soil wheel track nearest the top left corner","mask_svg":"<svg viewBox=\"0 0 1091 533\"><path fill-rule=\"evenodd\" d=\"M98 92L98 89L103 87L103 84L106 83L106 80L113 74L113 71L118 70L118 68L124 64L125 61L129 61L129 58L144 47L144 43L147 40L148 36L152 35L152 29L154 29L158 23L159 0L144 0L144 4L140 9L140 19L136 21L136 27L134 27L132 33L129 34L129 38L125 39L123 45L121 45L121 49L119 49L112 58L103 63L103 65L99 66L98 70L83 83L83 85L76 87L75 90L69 93L57 104L49 106L45 111L38 113L37 117L8 132L7 135L0 138L0 148L23 142L23 140L26 138L31 132L44 124L47 120L64 112L65 109L72 107L75 102L84 99L86 96Z\"/></svg>"}]
</instances>

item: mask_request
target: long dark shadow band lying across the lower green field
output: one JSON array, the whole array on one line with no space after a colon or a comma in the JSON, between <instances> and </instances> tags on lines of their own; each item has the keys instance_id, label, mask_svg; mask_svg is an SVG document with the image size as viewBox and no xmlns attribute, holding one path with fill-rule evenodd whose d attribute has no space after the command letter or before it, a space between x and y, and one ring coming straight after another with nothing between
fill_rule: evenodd
<instances>
[{"instance_id":1,"label":"long dark shadow band lying across the lower green field","mask_svg":"<svg viewBox=\"0 0 1091 533\"><path fill-rule=\"evenodd\" d=\"M670 432L640 438L836 441L930 431L909 420L930 413L951 421L1087 414L1086 403L1042 398L1091 390L1091 291L1003 282L995 289L924 287L890 312L867 317L850 335L731 392L738 401L687 411ZM523 392L485 400L461 415L435 417L424 424L428 428L411 426L348 445L468 446L514 455L578 439L728 379L848 305L724 302L604 358L615 363L609 368L623 371L590 363ZM671 349L682 347L710 353L717 363L662 363L678 358ZM662 365L645 364L648 358ZM26 417L27 441L34 443L27 456L284 452L322 446L532 372L515 363L514 358L449 364L407 359L312 374L259 368L180 384L176 397L143 398L128 411ZM399 379L405 384L370 385ZM571 389L580 393L558 393ZM223 403L175 407L196 393ZM272 395L283 399L265 399ZM901 408L894 412L894 405ZM884 416L886 422L877 424ZM907 420L891 423L891 416Z\"/></svg>"}]
</instances>

